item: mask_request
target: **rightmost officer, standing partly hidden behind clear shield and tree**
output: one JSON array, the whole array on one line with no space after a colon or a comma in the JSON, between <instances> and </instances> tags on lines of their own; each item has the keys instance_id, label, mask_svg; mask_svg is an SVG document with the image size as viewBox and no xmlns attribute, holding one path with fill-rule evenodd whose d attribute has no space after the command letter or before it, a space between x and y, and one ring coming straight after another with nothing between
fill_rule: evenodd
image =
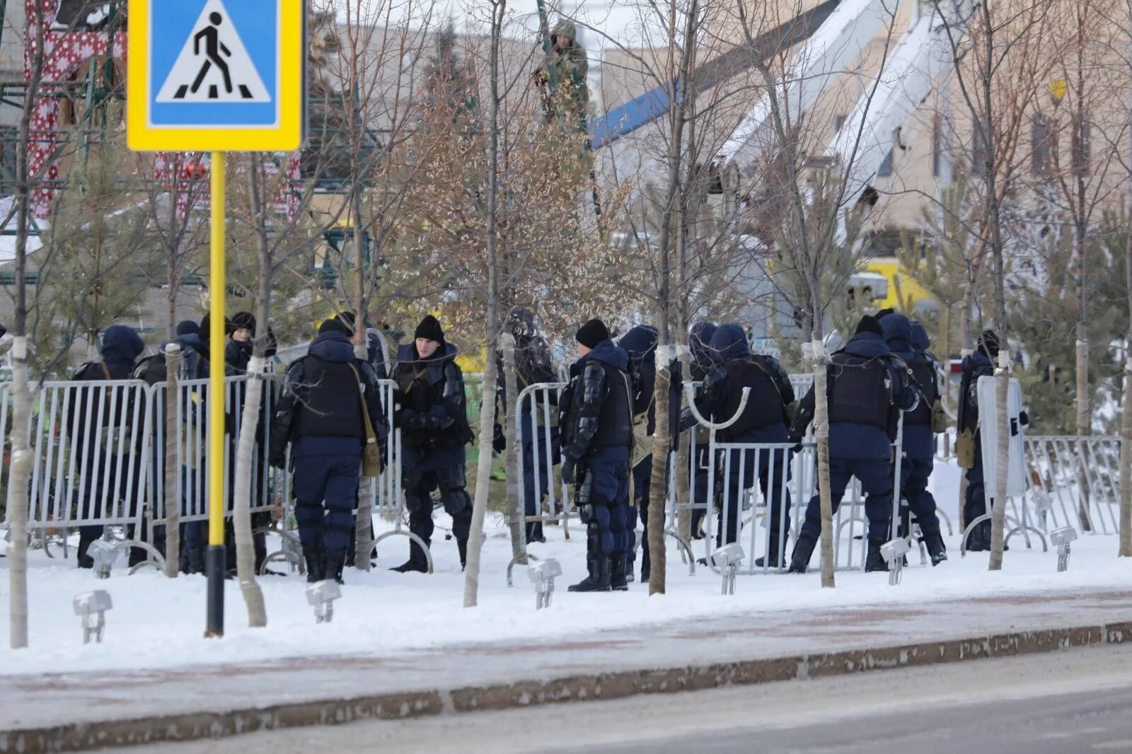
<instances>
[{"instance_id":1,"label":"rightmost officer, standing partly hidden behind clear shield and tree","mask_svg":"<svg viewBox=\"0 0 1132 754\"><path fill-rule=\"evenodd\" d=\"M963 359L963 376L959 383L959 437L968 452L959 453L959 462L967 469L967 498L963 500L963 521L967 525L987 512L986 485L983 475L983 439L979 437L979 377L994 375L998 358L998 336L987 329L979 335L978 348ZM964 457L966 456L966 457ZM990 522L979 524L967 540L967 549L980 552L990 549Z\"/></svg>"}]
</instances>

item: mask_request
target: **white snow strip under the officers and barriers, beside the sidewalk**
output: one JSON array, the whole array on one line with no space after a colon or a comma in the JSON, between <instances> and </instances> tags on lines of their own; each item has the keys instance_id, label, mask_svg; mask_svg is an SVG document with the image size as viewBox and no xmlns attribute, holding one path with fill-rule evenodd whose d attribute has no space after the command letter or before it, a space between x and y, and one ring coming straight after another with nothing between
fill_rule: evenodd
<instances>
[{"instance_id":1,"label":"white snow strip under the officers and barriers, beside the sidewalk","mask_svg":"<svg viewBox=\"0 0 1132 754\"><path fill-rule=\"evenodd\" d=\"M951 503L958 470L941 468L937 494ZM437 523L447 523L437 514ZM480 580L480 607L463 609L464 580L454 541L445 541L438 528L434 540L436 574L396 574L409 550L405 538L383 542L377 568L370 573L346 572L343 598L335 606L334 623L316 626L306 602L305 582L298 576L260 580L267 601L266 629L246 627L239 588L229 582L226 636L205 641L205 580L181 576L170 581L156 572L127 576L119 567L109 581L97 581L89 571L78 571L74 560L49 559L42 551L31 558L31 648L7 649L8 620L0 620L0 675L157 668L230 661L277 660L311 654L395 656L409 649L435 649L475 642L524 643L556 641L595 629L641 628L672 622L704 622L739 611L765 614L773 626L775 612L789 608L849 607L858 605L912 607L925 601L968 596L1007 596L1086 588L1121 588L1132 584L1132 560L1116 558L1114 537L1086 537L1074 543L1067 573L1056 573L1056 554L1043 554L1035 542L1027 550L1012 541L1005 569L988 573L987 555L959 558L958 537L947 540L952 559L938 568L912 565L903 584L890 588L885 574L844 572L838 588L823 590L818 575L740 576L737 594L719 594L720 580L705 568L694 577L670 548L668 594L650 598L648 586L633 584L628 593L571 594L566 586L584 576L584 537L575 526L564 541L558 526L548 526L546 545L531 552L556 557L565 569L557 582L550 609L534 610L534 591L525 569L515 571L515 586L506 586L511 558L507 530L501 521L488 521ZM697 556L701 555L697 551ZM816 556L814 563L816 564ZM0 559L0 572L7 569ZM114 601L105 642L83 645L78 618L71 609L75 594L106 589ZM7 614L8 579L0 574L0 612ZM1073 625L1066 612L1065 625ZM778 626L775 631L789 631Z\"/></svg>"}]
</instances>

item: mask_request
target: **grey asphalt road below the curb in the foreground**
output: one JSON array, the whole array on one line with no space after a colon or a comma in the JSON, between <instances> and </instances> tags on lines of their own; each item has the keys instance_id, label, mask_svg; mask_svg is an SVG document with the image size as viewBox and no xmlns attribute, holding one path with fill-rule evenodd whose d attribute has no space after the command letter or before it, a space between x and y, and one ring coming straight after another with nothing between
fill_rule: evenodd
<instances>
[{"instance_id":1,"label":"grey asphalt road below the curb in the foreground","mask_svg":"<svg viewBox=\"0 0 1132 754\"><path fill-rule=\"evenodd\" d=\"M1132 648L747 688L361 722L131 752L1132 752Z\"/></svg>"}]
</instances>

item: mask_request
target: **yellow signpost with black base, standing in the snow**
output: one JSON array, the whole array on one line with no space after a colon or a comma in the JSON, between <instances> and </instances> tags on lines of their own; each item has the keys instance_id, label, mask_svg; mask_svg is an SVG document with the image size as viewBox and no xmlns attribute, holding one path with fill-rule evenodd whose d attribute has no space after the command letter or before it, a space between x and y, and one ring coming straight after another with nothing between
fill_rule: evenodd
<instances>
[{"instance_id":1,"label":"yellow signpost with black base, standing in the snow","mask_svg":"<svg viewBox=\"0 0 1132 754\"><path fill-rule=\"evenodd\" d=\"M224 152L212 154L212 243L208 327L208 625L206 637L224 635Z\"/></svg>"}]
</instances>

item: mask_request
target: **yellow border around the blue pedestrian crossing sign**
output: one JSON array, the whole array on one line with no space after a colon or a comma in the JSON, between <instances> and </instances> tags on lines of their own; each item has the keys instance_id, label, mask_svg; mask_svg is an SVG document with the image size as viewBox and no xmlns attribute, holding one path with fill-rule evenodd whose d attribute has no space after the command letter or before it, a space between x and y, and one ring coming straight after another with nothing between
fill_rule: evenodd
<instances>
[{"instance_id":1,"label":"yellow border around the blue pedestrian crossing sign","mask_svg":"<svg viewBox=\"0 0 1132 754\"><path fill-rule=\"evenodd\" d=\"M305 0L280 3L280 122L252 128L169 128L148 125L149 7L174 0L129 0L126 140L135 152L293 152L306 134L307 22Z\"/></svg>"}]
</instances>

